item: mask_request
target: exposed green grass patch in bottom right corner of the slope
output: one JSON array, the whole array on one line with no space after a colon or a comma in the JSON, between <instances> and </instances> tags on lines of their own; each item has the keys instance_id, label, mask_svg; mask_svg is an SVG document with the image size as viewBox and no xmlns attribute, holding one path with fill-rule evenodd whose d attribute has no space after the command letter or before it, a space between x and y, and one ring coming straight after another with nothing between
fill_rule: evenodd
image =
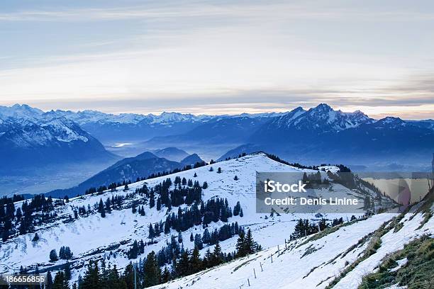
<instances>
[{"instance_id":1,"label":"exposed green grass patch in bottom right corner of the slope","mask_svg":"<svg viewBox=\"0 0 434 289\"><path fill-rule=\"evenodd\" d=\"M407 263L396 271L397 260L407 258ZM424 235L406 244L404 249L389 255L376 273L362 278L359 289L387 288L394 284L413 288L434 288L434 239Z\"/></svg>"}]
</instances>

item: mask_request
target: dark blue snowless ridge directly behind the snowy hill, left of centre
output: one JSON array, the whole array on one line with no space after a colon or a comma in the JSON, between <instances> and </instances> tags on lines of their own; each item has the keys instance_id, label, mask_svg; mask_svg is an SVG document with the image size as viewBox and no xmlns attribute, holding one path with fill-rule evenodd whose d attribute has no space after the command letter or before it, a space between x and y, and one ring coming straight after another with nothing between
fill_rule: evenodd
<instances>
[{"instance_id":1,"label":"dark blue snowless ridge directly behind the snowy hill, left of centre","mask_svg":"<svg viewBox=\"0 0 434 289\"><path fill-rule=\"evenodd\" d=\"M174 151L176 148L169 147L165 151ZM79 183L72 188L50 191L48 196L63 198L64 196L77 196L83 194L87 189L99 186L109 186L110 183L122 183L123 181L136 181L136 179L147 178L151 174L162 173L182 169L187 165L194 165L196 162L203 162L197 154L187 155L179 162L169 161L163 157L157 157L152 152L143 152L136 157L121 159L107 169L91 176L86 181Z\"/></svg>"}]
</instances>

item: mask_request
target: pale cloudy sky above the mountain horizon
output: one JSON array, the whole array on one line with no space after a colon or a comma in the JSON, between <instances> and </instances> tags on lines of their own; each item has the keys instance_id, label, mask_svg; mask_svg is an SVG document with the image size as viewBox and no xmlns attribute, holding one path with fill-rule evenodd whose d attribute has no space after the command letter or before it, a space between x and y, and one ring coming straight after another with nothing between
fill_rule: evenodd
<instances>
[{"instance_id":1,"label":"pale cloudy sky above the mountain horizon","mask_svg":"<svg viewBox=\"0 0 434 289\"><path fill-rule=\"evenodd\" d=\"M434 118L433 1L0 1L0 105Z\"/></svg>"}]
</instances>

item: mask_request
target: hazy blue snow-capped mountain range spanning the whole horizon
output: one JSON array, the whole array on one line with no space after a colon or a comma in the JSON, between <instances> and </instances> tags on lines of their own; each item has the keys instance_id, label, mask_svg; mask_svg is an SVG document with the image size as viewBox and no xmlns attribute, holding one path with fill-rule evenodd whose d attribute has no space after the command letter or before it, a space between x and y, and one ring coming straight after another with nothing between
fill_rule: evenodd
<instances>
[{"instance_id":1,"label":"hazy blue snow-capped mountain range spanning the whole horizon","mask_svg":"<svg viewBox=\"0 0 434 289\"><path fill-rule=\"evenodd\" d=\"M0 106L4 168L116 158L101 142L123 140L137 140L141 152L153 149L157 157L177 162L187 152L158 149L176 146L207 159L262 150L291 162L419 166L428 164L434 151L434 120L374 120L361 111L335 111L325 103L307 111L299 107L240 115L113 115Z\"/></svg>"}]
</instances>

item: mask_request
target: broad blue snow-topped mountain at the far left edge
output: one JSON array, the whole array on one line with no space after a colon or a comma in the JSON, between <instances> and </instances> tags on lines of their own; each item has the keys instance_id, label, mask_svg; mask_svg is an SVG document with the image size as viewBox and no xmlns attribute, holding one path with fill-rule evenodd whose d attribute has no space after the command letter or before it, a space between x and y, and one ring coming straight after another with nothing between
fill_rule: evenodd
<instances>
[{"instance_id":1,"label":"broad blue snow-topped mountain at the far left edge","mask_svg":"<svg viewBox=\"0 0 434 289\"><path fill-rule=\"evenodd\" d=\"M0 108L0 171L116 158L72 120L25 105Z\"/></svg>"}]
</instances>

